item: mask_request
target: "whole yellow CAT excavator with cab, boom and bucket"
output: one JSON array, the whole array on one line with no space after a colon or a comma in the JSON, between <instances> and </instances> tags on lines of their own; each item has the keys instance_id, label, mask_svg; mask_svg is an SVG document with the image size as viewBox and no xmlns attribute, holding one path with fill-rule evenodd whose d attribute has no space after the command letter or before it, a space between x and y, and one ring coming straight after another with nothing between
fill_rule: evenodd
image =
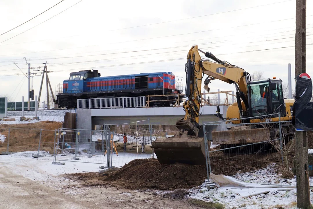
<instances>
[{"instance_id":1,"label":"whole yellow CAT excavator with cab, boom and bucket","mask_svg":"<svg viewBox=\"0 0 313 209\"><path fill-rule=\"evenodd\" d=\"M199 52L208 59L202 59ZM227 61L216 58L212 53L204 52L193 46L187 55L186 71L186 101L183 104L185 117L178 120L177 133L170 138L157 138L153 141L152 148L157 159L162 164L187 163L192 165L205 165L205 147L203 127L199 124L201 114L201 84L204 74L208 75L204 81L204 89L209 92L208 84L215 80L221 80L236 87L236 100L227 109L226 118L223 118L217 107L218 117L227 124L235 123L259 123L265 121L279 121L278 115L266 118L265 115L280 113L280 121L289 121L292 117L293 99L284 99L282 81L280 79L267 79L264 81L251 81L251 76L244 69L232 65ZM256 99L257 98L257 99ZM260 117L264 116L264 117ZM257 119L251 117L258 117ZM237 120L238 119L238 120ZM264 128L250 126L256 136L264 133ZM244 128L247 130L247 127ZM285 136L293 134L292 127L288 125L282 128ZM231 133L231 134L229 134ZM257 134L259 133L259 134ZM242 137L239 135L242 134ZM225 136L223 143L214 141L214 135ZM229 136L236 137L229 137ZM244 141L252 143L242 130L229 129L227 131L212 131L213 144L238 145ZM228 137L228 138L227 138ZM241 142L233 141L233 138L241 138ZM244 139L244 140L243 140ZM266 139L260 139L264 140ZM208 143L208 146L211 143ZM208 147L210 149L210 147Z\"/></svg>"}]
</instances>

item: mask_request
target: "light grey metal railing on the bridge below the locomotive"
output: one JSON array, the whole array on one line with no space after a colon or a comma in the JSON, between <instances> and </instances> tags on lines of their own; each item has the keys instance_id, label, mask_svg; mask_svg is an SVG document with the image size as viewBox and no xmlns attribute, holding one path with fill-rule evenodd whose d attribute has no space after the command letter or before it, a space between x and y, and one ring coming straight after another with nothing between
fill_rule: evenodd
<instances>
[{"instance_id":1,"label":"light grey metal railing on the bridge below the locomotive","mask_svg":"<svg viewBox=\"0 0 313 209\"><path fill-rule=\"evenodd\" d=\"M77 109L145 107L146 97L78 99Z\"/></svg>"}]
</instances>

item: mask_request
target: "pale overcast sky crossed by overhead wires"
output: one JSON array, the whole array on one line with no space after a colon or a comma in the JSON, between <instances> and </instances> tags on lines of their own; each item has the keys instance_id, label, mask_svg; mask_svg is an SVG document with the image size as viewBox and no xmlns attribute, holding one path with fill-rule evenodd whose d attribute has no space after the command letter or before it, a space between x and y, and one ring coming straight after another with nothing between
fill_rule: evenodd
<instances>
[{"instance_id":1,"label":"pale overcast sky crossed by overhead wires","mask_svg":"<svg viewBox=\"0 0 313 209\"><path fill-rule=\"evenodd\" d=\"M0 34L60 1L0 1ZM310 8L313 1L307 1L306 18L306 71L313 75ZM295 77L294 36L295 0L64 0L0 35L0 95L27 100L24 57L36 73L31 79L35 95L45 62L54 93L70 72L90 69L101 76L171 71L185 82L187 53L196 44L250 74L262 71L266 78L288 82L288 63ZM211 92L235 90L218 80L209 87Z\"/></svg>"}]
</instances>

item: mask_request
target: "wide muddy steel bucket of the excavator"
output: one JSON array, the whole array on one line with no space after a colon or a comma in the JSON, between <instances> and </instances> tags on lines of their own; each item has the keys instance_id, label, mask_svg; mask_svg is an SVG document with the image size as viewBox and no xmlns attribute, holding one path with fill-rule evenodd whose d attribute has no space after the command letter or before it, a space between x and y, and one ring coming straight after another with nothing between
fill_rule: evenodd
<instances>
[{"instance_id":1,"label":"wide muddy steel bucket of the excavator","mask_svg":"<svg viewBox=\"0 0 313 209\"><path fill-rule=\"evenodd\" d=\"M189 136L187 133L187 131L184 133L177 132L173 137L156 138L151 143L161 164L178 162L191 165L206 165L204 138Z\"/></svg>"}]
</instances>

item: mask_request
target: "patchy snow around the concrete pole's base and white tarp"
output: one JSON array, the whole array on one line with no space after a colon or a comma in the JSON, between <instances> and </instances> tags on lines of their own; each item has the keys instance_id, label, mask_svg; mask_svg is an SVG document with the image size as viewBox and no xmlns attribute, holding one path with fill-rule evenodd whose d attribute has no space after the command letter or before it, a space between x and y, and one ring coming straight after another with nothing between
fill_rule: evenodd
<instances>
[{"instance_id":1,"label":"patchy snow around the concrete pole's base and white tarp","mask_svg":"<svg viewBox=\"0 0 313 209\"><path fill-rule=\"evenodd\" d=\"M263 183L263 184L280 184L280 185L296 185L295 177L293 179L283 179L275 172L275 168L260 170L255 173L249 173L234 177L244 182ZM310 177L312 182L312 177ZM268 191L267 194L255 195L259 192ZM230 208L296 208L294 207L297 201L296 189L291 191L279 191L274 188L239 188L239 187L220 187L207 190L204 184L200 188L190 190L189 197L224 204ZM311 191L311 202L313 201L313 192Z\"/></svg>"}]
</instances>

